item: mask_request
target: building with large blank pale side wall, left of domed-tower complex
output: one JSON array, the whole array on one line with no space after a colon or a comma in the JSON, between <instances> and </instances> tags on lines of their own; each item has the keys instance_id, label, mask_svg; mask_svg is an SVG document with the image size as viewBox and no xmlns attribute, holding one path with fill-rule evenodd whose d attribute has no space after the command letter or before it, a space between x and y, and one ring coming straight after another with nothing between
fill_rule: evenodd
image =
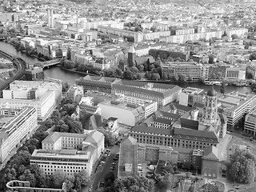
<instances>
[{"instance_id":1,"label":"building with large blank pale side wall, left of domed-tower complex","mask_svg":"<svg viewBox=\"0 0 256 192\"><path fill-rule=\"evenodd\" d=\"M98 103L102 111L102 118L118 118L118 122L127 126L135 126L145 118L145 109L142 106L106 100Z\"/></svg>"}]
</instances>

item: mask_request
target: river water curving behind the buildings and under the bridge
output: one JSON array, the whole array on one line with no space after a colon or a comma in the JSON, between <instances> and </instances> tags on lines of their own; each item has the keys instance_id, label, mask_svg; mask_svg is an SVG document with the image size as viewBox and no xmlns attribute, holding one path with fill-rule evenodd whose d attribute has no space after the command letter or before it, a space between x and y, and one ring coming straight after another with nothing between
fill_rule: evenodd
<instances>
[{"instance_id":1,"label":"river water curving behind the buildings and under the bridge","mask_svg":"<svg viewBox=\"0 0 256 192\"><path fill-rule=\"evenodd\" d=\"M26 61L29 64L34 64L36 62L40 62L38 58L32 58L27 56L26 54L22 54L20 51L15 50L14 46L10 45L6 42L0 42L0 50L5 51L8 54L17 56L19 58L22 58L24 61ZM44 70L45 78L58 78L61 79L63 82L69 82L74 83L75 79L84 77L84 74L77 74L71 71L62 70L62 68L58 66L51 66L50 68ZM200 82L171 82L171 84L175 84L181 87L197 87L203 90L209 90L210 86L206 86L203 83ZM214 86L214 89L220 92L220 86ZM250 92L249 86L226 86L226 93L230 93L231 91L239 91L243 94L246 94L247 92Z\"/></svg>"}]
</instances>

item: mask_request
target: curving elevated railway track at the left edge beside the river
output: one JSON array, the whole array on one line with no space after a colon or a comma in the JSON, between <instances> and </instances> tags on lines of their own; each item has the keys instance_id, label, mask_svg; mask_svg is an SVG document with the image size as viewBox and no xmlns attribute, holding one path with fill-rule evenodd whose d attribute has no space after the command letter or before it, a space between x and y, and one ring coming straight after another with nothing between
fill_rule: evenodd
<instances>
[{"instance_id":1,"label":"curving elevated railway track at the left edge beside the river","mask_svg":"<svg viewBox=\"0 0 256 192\"><path fill-rule=\"evenodd\" d=\"M0 50L0 54L4 55L6 58L9 58L14 63L14 66L16 66L17 68L17 72L14 74L14 77L8 79L0 85L0 90L2 91L10 86L10 83L14 80L22 78L22 76L25 74L26 62L24 62L22 58L15 58L12 55L7 54L6 52L3 52L2 50Z\"/></svg>"}]
</instances>

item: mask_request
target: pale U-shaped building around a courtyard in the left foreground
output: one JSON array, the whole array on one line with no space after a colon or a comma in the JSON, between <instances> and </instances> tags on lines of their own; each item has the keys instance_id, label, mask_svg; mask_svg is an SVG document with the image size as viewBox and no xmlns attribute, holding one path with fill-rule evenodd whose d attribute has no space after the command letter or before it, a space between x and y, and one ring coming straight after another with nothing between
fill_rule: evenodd
<instances>
[{"instance_id":1,"label":"pale U-shaped building around a courtyard in the left foreground","mask_svg":"<svg viewBox=\"0 0 256 192\"><path fill-rule=\"evenodd\" d=\"M38 163L46 175L62 170L74 175L86 170L90 177L94 163L104 150L104 135L97 130L87 134L52 132L42 141L42 150L34 150L30 163Z\"/></svg>"}]
</instances>

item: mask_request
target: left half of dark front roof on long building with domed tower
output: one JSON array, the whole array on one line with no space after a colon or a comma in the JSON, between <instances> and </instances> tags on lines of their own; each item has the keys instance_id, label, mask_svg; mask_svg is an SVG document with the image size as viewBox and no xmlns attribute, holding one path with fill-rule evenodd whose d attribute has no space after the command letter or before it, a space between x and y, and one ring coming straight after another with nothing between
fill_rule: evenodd
<instances>
[{"instance_id":1,"label":"left half of dark front roof on long building with domed tower","mask_svg":"<svg viewBox=\"0 0 256 192\"><path fill-rule=\"evenodd\" d=\"M152 126L134 126L130 129L130 132L138 132L138 133L145 133L145 134L162 134L162 135L172 135L172 130L162 129L162 128L155 128Z\"/></svg>"}]
</instances>

